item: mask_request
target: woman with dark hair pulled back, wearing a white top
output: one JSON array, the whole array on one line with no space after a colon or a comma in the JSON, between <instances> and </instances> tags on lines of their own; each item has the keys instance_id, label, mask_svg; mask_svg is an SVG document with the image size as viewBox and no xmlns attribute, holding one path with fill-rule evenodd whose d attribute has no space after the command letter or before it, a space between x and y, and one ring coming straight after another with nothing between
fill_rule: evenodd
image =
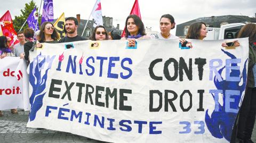
<instances>
[{"instance_id":1,"label":"woman with dark hair pulled back, wearing a white top","mask_svg":"<svg viewBox=\"0 0 256 143\"><path fill-rule=\"evenodd\" d=\"M151 38L156 39L179 39L179 37L170 33L175 28L174 18L171 14L164 14L160 18L159 27L161 32L152 34Z\"/></svg>"}]
</instances>

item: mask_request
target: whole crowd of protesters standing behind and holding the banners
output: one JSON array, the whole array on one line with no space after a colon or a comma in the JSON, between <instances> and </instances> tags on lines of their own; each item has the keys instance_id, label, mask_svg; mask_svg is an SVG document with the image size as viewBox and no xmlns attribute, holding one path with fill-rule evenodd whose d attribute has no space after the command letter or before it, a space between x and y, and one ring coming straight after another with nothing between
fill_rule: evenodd
<instances>
[{"instance_id":1,"label":"whole crowd of protesters standing behind and holding the banners","mask_svg":"<svg viewBox=\"0 0 256 143\"><path fill-rule=\"evenodd\" d=\"M193 44L189 39L203 40L207 36L206 24L197 22L192 24L186 36L186 39L179 38L171 34L171 30L175 28L175 21L172 15L164 14L159 20L159 33L147 36L145 27L141 19L137 15L129 15L125 21L125 37L121 38L120 30L112 30L108 32L104 26L95 27L90 40L127 40L127 46L134 47L136 39L179 39L183 47L193 48ZM66 37L60 39L57 31L51 22L44 22L39 31L27 28L23 32L18 32L18 40L20 43L11 46L10 38L0 36L0 57L17 56L23 58L29 64L29 51L34 51L34 48L42 48L42 43L66 43L73 41L85 40L85 38L77 35L78 21L76 18L66 18L65 33ZM34 37L36 36L36 41ZM237 38L249 37L249 66L247 85L245 96L241 109L239 110L236 122L238 123L236 140L238 142L252 142L252 130L256 115L256 24L246 24L238 33ZM239 46L239 41L233 41L235 47ZM226 43L222 43L222 47L227 47ZM17 114L17 109L12 109L13 114ZM0 116L3 113L0 111Z\"/></svg>"}]
</instances>

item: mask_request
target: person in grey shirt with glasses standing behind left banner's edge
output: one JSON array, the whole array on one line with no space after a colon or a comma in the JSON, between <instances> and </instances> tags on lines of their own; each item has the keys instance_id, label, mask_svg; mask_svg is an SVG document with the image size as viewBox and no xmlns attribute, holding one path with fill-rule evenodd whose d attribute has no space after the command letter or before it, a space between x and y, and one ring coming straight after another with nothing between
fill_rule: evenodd
<instances>
[{"instance_id":1,"label":"person in grey shirt with glasses standing behind left banner's edge","mask_svg":"<svg viewBox=\"0 0 256 143\"><path fill-rule=\"evenodd\" d=\"M23 31L19 31L17 35L20 43L17 43L14 45L13 54L14 56L19 56L20 58L24 58L24 44L26 43L25 36Z\"/></svg>"}]
</instances>

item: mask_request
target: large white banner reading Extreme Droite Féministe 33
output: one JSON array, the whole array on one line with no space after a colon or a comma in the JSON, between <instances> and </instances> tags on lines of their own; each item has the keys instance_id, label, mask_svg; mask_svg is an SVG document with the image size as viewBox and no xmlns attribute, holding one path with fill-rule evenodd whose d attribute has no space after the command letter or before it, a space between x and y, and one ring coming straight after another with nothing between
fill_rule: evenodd
<instances>
[{"instance_id":1,"label":"large white banner reading Extreme Droite F\u00e9ministe 33","mask_svg":"<svg viewBox=\"0 0 256 143\"><path fill-rule=\"evenodd\" d=\"M30 53L27 127L109 142L229 142L249 41L77 41Z\"/></svg>"}]
</instances>

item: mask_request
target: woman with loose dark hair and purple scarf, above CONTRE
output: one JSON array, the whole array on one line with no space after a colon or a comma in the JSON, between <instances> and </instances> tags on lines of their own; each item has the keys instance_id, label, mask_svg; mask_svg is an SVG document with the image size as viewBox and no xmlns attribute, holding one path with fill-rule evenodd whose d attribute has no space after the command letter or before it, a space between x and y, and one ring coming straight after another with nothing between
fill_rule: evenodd
<instances>
[{"instance_id":1,"label":"woman with loose dark hair and purple scarf, above CONTRE","mask_svg":"<svg viewBox=\"0 0 256 143\"><path fill-rule=\"evenodd\" d=\"M148 39L146 36L144 24L137 15L129 15L125 21L125 37L128 40L128 47L135 47L135 39Z\"/></svg>"}]
</instances>

